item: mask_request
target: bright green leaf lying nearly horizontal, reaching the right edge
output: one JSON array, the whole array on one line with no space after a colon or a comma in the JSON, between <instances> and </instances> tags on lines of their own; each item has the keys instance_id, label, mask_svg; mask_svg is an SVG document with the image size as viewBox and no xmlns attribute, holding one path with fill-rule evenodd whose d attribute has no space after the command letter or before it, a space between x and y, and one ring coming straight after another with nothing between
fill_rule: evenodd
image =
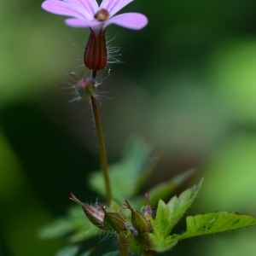
<instances>
[{"instance_id":1,"label":"bright green leaf lying nearly horizontal, reaching the right edge","mask_svg":"<svg viewBox=\"0 0 256 256\"><path fill-rule=\"evenodd\" d=\"M238 214L236 212L210 212L189 216L186 221L187 230L179 239L205 236L256 225L256 218L253 216Z\"/></svg>"}]
</instances>

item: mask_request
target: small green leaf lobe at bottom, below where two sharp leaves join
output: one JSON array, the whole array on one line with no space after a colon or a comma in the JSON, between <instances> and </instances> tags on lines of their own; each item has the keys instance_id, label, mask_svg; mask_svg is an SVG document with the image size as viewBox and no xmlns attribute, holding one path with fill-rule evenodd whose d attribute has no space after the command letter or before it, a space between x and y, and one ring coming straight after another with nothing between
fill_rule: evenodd
<instances>
[{"instance_id":1,"label":"small green leaf lobe at bottom, below where two sharp leaves join","mask_svg":"<svg viewBox=\"0 0 256 256\"><path fill-rule=\"evenodd\" d=\"M166 236L165 238L160 236L155 236L154 234L149 234L150 241L154 246L154 250L158 253L163 253L171 250L177 244L176 236Z\"/></svg>"}]
</instances>

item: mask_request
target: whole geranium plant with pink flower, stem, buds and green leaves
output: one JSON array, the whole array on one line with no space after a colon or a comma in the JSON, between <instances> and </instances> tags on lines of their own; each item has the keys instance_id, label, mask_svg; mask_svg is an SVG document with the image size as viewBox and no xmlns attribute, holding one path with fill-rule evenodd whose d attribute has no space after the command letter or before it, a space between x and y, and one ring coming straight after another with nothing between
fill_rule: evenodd
<instances>
[{"instance_id":1,"label":"whole geranium plant with pink flower, stem, buds and green leaves","mask_svg":"<svg viewBox=\"0 0 256 256\"><path fill-rule=\"evenodd\" d=\"M195 201L203 178L178 196L171 195L193 172L174 177L149 189L144 195L138 195L139 189L154 169L152 163L148 164L151 150L140 140L131 140L119 163L108 168L96 100L96 90L102 80L97 74L109 61L106 44L106 30L109 25L140 30L148 24L148 18L143 14L117 15L119 10L132 1L103 0L99 5L96 0L46 0L42 4L42 8L50 13L67 16L67 26L90 29L90 36L84 49L84 70L89 69L90 76L78 78L73 72L70 75L75 80L73 87L78 95L76 99L90 99L102 172L94 172L89 183L96 192L106 198L106 202L91 205L80 201L73 193L70 194L70 199L78 206L73 207L67 217L49 224L40 233L44 237L69 236L70 245L62 249L58 255L90 255L93 253L90 248L81 252L77 245L103 233L115 236L118 245L117 251L104 255L154 255L171 250L177 242L189 237L236 230L256 224L256 218L249 215L237 212L210 212L187 217L186 230L176 234L173 228ZM171 200L165 201L166 198Z\"/></svg>"}]
</instances>

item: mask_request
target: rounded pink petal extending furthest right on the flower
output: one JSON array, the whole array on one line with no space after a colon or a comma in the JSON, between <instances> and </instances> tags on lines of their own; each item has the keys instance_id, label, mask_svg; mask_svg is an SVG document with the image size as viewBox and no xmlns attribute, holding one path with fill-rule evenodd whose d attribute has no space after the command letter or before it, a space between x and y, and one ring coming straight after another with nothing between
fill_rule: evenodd
<instances>
[{"instance_id":1,"label":"rounded pink petal extending furthest right on the flower","mask_svg":"<svg viewBox=\"0 0 256 256\"><path fill-rule=\"evenodd\" d=\"M116 15L107 20L104 27L115 24L118 26L124 26L126 28L139 30L148 24L148 18L145 15L138 13L126 13Z\"/></svg>"}]
</instances>

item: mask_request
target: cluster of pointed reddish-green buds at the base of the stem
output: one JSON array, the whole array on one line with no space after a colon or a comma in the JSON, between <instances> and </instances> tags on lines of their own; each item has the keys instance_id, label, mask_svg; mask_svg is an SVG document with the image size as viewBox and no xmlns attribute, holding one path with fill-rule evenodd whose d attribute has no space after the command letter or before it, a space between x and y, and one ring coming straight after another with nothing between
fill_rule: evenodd
<instances>
[{"instance_id":1,"label":"cluster of pointed reddish-green buds at the base of the stem","mask_svg":"<svg viewBox=\"0 0 256 256\"><path fill-rule=\"evenodd\" d=\"M146 198L147 196L148 194ZM87 218L97 228L126 237L132 253L142 253L152 250L148 236L151 230L150 218L152 218L152 209L148 204L149 202L144 207L144 209L147 208L148 210L146 212L140 212L133 209L130 203L125 200L125 208L131 211L131 219L127 220L120 212L108 211L102 205L94 207L83 203L73 194L70 195L70 199L79 203Z\"/></svg>"}]
</instances>

